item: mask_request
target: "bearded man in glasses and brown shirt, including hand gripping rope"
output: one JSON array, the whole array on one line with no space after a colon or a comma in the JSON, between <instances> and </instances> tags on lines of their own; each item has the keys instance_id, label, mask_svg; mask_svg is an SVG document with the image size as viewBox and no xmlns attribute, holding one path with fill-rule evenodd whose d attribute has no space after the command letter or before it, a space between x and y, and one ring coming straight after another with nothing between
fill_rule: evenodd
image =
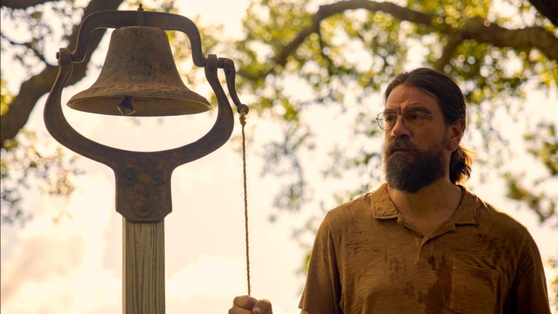
<instances>
[{"instance_id":1,"label":"bearded man in glasses and brown shirt, including hand gripping rope","mask_svg":"<svg viewBox=\"0 0 558 314\"><path fill-rule=\"evenodd\" d=\"M310 258L302 313L550 313L535 241L459 183L465 101L446 75L420 68L388 85L386 183L330 211ZM231 314L270 314L237 297Z\"/></svg>"}]
</instances>

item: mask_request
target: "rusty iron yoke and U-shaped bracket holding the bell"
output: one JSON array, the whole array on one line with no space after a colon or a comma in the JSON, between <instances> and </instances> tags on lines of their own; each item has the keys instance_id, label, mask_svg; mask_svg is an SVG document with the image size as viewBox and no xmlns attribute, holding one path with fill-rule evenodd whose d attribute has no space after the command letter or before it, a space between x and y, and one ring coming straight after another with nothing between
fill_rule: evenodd
<instances>
[{"instance_id":1,"label":"rusty iron yoke and U-shaped bracket holding the bell","mask_svg":"<svg viewBox=\"0 0 558 314\"><path fill-rule=\"evenodd\" d=\"M194 64L205 69L205 77L218 102L217 120L199 140L175 149L140 152L112 148L92 141L70 126L62 113L62 89L68 82L73 63L85 59L89 36L97 28L124 26L157 27L184 32L190 39ZM234 127L233 112L217 76L225 72L227 87L238 112L248 113L240 103L234 87L235 69L232 60L208 55L201 51L198 27L189 18L172 13L147 11L100 11L85 18L80 26L75 50L61 48L56 53L59 72L46 100L45 125L60 144L87 158L109 166L116 177L116 211L131 222L161 221L172 211L171 175L177 167L217 150L227 142Z\"/></svg>"}]
</instances>

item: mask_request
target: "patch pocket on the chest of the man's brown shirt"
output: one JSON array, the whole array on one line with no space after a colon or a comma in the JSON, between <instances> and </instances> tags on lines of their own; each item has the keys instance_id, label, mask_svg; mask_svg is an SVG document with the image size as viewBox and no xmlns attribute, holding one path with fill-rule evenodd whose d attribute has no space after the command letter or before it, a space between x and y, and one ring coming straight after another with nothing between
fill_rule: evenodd
<instances>
[{"instance_id":1,"label":"patch pocket on the chest of the man's brown shirt","mask_svg":"<svg viewBox=\"0 0 558 314\"><path fill-rule=\"evenodd\" d=\"M456 261L451 278L450 310L463 314L494 313L500 271Z\"/></svg>"}]
</instances>

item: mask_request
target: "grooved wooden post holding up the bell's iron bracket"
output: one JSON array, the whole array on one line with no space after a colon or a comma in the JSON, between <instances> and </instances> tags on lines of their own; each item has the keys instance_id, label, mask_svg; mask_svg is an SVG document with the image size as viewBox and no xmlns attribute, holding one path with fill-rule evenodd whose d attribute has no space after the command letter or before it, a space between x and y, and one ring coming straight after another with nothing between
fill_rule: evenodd
<instances>
[{"instance_id":1,"label":"grooved wooden post holding up the bell's iron bracket","mask_svg":"<svg viewBox=\"0 0 558 314\"><path fill-rule=\"evenodd\" d=\"M165 313L165 221L122 218L122 313Z\"/></svg>"}]
</instances>

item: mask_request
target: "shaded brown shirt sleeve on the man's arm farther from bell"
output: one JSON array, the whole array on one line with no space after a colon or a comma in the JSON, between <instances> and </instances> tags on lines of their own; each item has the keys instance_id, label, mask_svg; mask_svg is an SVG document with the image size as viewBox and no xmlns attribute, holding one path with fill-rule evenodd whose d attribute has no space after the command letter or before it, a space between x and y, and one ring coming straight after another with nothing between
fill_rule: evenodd
<instances>
[{"instance_id":1,"label":"shaded brown shirt sleeve on the man's arm farther from bell","mask_svg":"<svg viewBox=\"0 0 558 314\"><path fill-rule=\"evenodd\" d=\"M527 232L511 291L511 312L550 314L545 269L537 244Z\"/></svg>"}]
</instances>

